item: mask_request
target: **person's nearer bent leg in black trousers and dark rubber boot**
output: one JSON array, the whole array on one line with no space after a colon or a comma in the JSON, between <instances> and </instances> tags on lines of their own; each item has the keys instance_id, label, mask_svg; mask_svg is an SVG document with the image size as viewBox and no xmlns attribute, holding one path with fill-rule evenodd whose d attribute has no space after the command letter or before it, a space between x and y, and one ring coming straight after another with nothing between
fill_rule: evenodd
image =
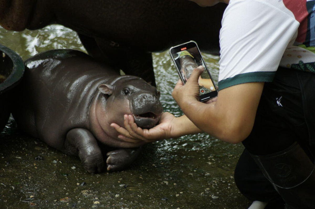
<instances>
[{"instance_id":1,"label":"person's nearer bent leg in black trousers and dark rubber boot","mask_svg":"<svg viewBox=\"0 0 315 209\"><path fill-rule=\"evenodd\" d=\"M310 77L313 82L301 88ZM253 130L243 141L287 208L315 208L314 162L310 152L301 148L310 148L305 112L306 102L315 106L315 96L303 96L304 91L314 90L314 84L315 74L279 69L274 81L266 83Z\"/></svg>"}]
</instances>

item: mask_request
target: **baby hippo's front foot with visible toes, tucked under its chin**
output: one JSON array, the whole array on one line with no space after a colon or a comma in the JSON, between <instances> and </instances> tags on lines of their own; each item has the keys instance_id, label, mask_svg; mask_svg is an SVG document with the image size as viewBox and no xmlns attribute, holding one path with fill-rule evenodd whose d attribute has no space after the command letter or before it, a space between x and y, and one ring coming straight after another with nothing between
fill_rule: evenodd
<instances>
[{"instance_id":1,"label":"baby hippo's front foot with visible toes, tucked under its chin","mask_svg":"<svg viewBox=\"0 0 315 209\"><path fill-rule=\"evenodd\" d=\"M119 149L107 152L107 171L115 172L127 168L135 161L140 153L141 148L136 149Z\"/></svg>"}]
</instances>

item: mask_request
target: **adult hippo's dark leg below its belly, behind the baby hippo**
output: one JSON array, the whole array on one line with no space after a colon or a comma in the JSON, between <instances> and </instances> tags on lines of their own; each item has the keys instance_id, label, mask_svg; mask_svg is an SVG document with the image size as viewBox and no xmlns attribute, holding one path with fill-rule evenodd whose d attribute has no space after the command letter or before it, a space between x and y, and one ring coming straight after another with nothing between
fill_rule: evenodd
<instances>
[{"instance_id":1,"label":"adult hippo's dark leg below its belly, behind the baby hippo","mask_svg":"<svg viewBox=\"0 0 315 209\"><path fill-rule=\"evenodd\" d=\"M135 75L156 86L152 53L131 49L113 41L78 34L89 55L98 61L109 63L114 69L122 69L126 75Z\"/></svg>"}]
</instances>

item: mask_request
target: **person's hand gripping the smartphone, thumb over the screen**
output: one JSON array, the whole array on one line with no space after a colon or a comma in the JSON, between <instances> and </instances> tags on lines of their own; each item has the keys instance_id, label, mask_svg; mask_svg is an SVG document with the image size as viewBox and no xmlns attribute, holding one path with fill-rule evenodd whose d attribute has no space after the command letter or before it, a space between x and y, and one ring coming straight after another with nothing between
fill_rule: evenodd
<instances>
[{"instance_id":1,"label":"person's hand gripping the smartphone, thumb over the screen","mask_svg":"<svg viewBox=\"0 0 315 209\"><path fill-rule=\"evenodd\" d=\"M192 71L192 75L185 85L181 82L181 80L179 80L175 85L172 96L180 107L199 99L198 79L202 72L203 66L199 66Z\"/></svg>"}]
</instances>

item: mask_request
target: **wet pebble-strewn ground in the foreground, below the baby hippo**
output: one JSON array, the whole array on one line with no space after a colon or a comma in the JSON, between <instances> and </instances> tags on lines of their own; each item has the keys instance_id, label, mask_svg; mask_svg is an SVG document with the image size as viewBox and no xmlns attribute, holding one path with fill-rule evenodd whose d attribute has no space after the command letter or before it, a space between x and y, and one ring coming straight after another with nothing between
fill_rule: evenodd
<instances>
[{"instance_id":1,"label":"wet pebble-strewn ground in the foreground, below the baby hippo","mask_svg":"<svg viewBox=\"0 0 315 209\"><path fill-rule=\"evenodd\" d=\"M217 153L220 146L238 152L240 146L217 144L191 150L167 149L165 142L145 146L127 170L87 173L77 157L22 135L9 124L0 135L1 208L247 208L237 190L233 169L237 157ZM169 140L174 147L174 140ZM164 151L161 151L163 149Z\"/></svg>"}]
</instances>

